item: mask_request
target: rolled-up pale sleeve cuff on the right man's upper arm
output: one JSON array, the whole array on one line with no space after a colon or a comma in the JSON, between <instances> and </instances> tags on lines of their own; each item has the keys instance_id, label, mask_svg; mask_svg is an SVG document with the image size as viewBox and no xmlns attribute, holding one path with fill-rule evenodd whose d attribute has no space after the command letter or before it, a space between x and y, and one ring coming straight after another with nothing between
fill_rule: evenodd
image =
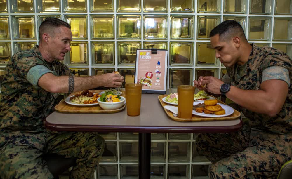
<instances>
[{"instance_id":1,"label":"rolled-up pale sleeve cuff on the right man's upper arm","mask_svg":"<svg viewBox=\"0 0 292 179\"><path fill-rule=\"evenodd\" d=\"M279 79L285 81L290 86L289 71L284 67L268 67L263 70L262 82L270 79Z\"/></svg>"}]
</instances>

